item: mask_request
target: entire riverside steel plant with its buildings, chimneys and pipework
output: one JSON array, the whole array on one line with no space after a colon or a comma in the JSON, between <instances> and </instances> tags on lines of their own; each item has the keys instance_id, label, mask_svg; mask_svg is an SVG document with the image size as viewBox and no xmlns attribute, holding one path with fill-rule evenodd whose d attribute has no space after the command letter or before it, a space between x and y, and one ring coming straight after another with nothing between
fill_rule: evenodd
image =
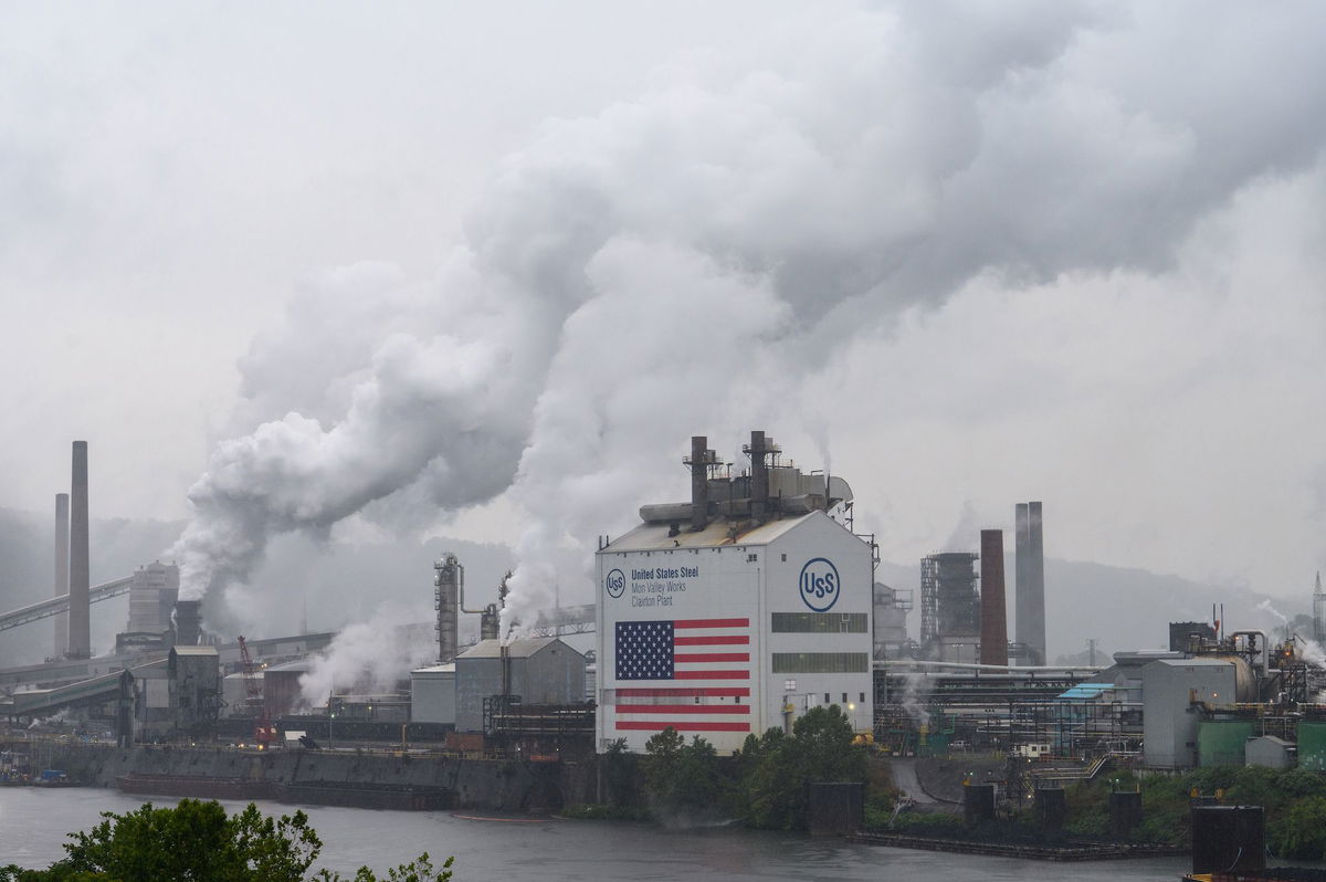
<instances>
[{"instance_id":1,"label":"entire riverside steel plant with its buildings, chimneys and pipework","mask_svg":"<svg viewBox=\"0 0 1326 882\"><path fill-rule=\"evenodd\" d=\"M1309 651L1326 619L1319 574L1310 635L1229 627L1213 609L1211 621L1168 623L1166 649L1053 664L1041 501L1012 505L1012 592L996 524L924 556L914 598L878 578L875 537L857 532L843 477L804 471L764 431L741 452L725 463L692 438L690 499L646 501L635 527L599 537L593 602L507 633L505 580L467 589L464 561L443 554L431 565L435 621L414 626L434 662L389 690L345 683L310 703L302 683L335 634L210 634L171 561L93 584L88 444L74 442L69 492L56 495L53 590L0 614L0 630L53 623L52 657L0 670L0 718L16 732L54 718L119 747L395 745L574 764L640 753L668 728L731 753L835 706L883 756L1005 756L1025 765L1009 779L1017 788L1105 764L1326 771L1326 671ZM125 594L127 622L98 655L93 606ZM151 772L139 772L129 779L145 788ZM427 787L436 792L420 798L435 805L460 785Z\"/></svg>"}]
</instances>

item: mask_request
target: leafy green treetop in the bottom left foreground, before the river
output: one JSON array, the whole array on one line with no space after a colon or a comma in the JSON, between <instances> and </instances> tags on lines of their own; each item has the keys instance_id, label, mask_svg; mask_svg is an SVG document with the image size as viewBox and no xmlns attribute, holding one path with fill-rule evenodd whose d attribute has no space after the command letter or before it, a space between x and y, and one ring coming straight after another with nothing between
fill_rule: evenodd
<instances>
[{"instance_id":1,"label":"leafy green treetop in the bottom left foreground, before the river","mask_svg":"<svg viewBox=\"0 0 1326 882\"><path fill-rule=\"evenodd\" d=\"M46 870L0 867L0 882L304 882L322 840L304 812L264 817L252 802L228 816L215 801L180 800L175 808L145 804L105 818L88 833L70 833L69 857ZM341 882L320 870L314 882ZM451 858L440 869L427 854L381 877L382 882L447 882ZM350 882L379 882L359 867Z\"/></svg>"}]
</instances>

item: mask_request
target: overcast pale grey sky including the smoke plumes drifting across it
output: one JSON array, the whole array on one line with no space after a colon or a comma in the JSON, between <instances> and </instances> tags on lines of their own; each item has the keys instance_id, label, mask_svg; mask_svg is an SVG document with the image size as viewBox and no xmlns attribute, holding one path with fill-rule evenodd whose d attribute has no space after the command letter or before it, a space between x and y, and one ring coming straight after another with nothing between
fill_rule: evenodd
<instances>
[{"instance_id":1,"label":"overcast pale grey sky including the smoke plumes drifting across it","mask_svg":"<svg viewBox=\"0 0 1326 882\"><path fill-rule=\"evenodd\" d=\"M1041 499L1326 566L1321 4L3 9L0 505L85 438L199 592L293 531L537 598L751 428L892 561Z\"/></svg>"}]
</instances>

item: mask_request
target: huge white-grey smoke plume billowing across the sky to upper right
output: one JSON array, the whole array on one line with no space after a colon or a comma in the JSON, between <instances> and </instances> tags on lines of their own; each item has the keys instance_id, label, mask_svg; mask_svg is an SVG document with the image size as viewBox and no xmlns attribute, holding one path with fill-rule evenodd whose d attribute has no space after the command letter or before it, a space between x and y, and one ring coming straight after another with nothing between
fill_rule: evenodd
<instances>
[{"instance_id":1,"label":"huge white-grey smoke plume billowing across the sky to upper right","mask_svg":"<svg viewBox=\"0 0 1326 882\"><path fill-rule=\"evenodd\" d=\"M690 434L776 430L900 310L977 275L1170 265L1204 212L1323 143L1326 12L1238 15L826 13L550 121L436 280L333 273L255 344L245 414L267 422L190 492L182 597L216 627L273 535L507 495L528 524L509 625L585 573L589 536L683 484L659 463Z\"/></svg>"}]
</instances>

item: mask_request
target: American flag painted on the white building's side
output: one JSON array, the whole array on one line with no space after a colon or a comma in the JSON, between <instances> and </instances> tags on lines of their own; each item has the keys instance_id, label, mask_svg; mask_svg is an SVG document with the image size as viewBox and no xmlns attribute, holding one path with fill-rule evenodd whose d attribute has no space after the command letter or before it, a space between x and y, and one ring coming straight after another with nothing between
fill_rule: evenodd
<instances>
[{"instance_id":1,"label":"American flag painted on the white building's side","mask_svg":"<svg viewBox=\"0 0 1326 882\"><path fill-rule=\"evenodd\" d=\"M619 731L749 732L751 619L617 622Z\"/></svg>"}]
</instances>

